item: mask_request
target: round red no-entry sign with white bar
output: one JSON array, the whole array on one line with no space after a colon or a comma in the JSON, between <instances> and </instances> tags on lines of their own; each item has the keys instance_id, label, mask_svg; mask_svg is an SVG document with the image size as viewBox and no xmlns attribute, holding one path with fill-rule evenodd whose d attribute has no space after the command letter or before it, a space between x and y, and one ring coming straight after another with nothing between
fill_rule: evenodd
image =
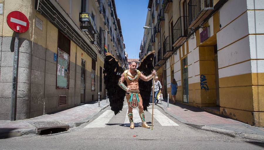
<instances>
[{"instance_id":1,"label":"round red no-entry sign with white bar","mask_svg":"<svg viewBox=\"0 0 264 150\"><path fill-rule=\"evenodd\" d=\"M13 31L24 33L28 31L28 18L20 11L12 11L6 17L6 22Z\"/></svg>"}]
</instances>

